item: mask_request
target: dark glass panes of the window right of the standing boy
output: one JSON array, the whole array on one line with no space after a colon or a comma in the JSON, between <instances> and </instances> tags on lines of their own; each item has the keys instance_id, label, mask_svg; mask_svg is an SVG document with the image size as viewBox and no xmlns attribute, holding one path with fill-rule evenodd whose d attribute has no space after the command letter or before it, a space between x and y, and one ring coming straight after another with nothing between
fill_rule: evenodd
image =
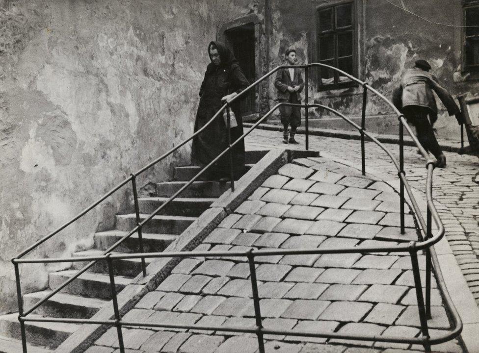
<instances>
[{"instance_id":1,"label":"dark glass panes of the window right of the standing boy","mask_svg":"<svg viewBox=\"0 0 479 353\"><path fill-rule=\"evenodd\" d=\"M319 8L317 12L317 57L319 63L354 75L354 2ZM319 69L319 89L349 86L352 81L337 71Z\"/></svg>"}]
</instances>

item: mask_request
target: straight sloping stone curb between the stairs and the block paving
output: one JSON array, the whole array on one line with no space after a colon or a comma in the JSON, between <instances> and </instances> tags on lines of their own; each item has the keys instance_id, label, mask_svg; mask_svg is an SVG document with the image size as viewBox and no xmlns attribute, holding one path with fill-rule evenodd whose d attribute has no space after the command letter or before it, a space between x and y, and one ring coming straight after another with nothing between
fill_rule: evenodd
<instances>
[{"instance_id":1,"label":"straight sloping stone curb between the stairs and the block paving","mask_svg":"<svg viewBox=\"0 0 479 353\"><path fill-rule=\"evenodd\" d=\"M291 158L318 156L314 151L269 151L244 176L235 182L235 191L225 192L213 202L197 220L171 243L164 252L191 251L228 215L247 199L249 194L259 187L266 178L275 173L279 167L288 163ZM148 292L154 290L166 278L171 270L181 261L180 257L162 257L147 267L147 276L141 274L133 282L118 293L120 315L124 315ZM114 318L113 304L110 301L98 311L91 320L110 320ZM107 330L106 325L85 324L56 348L54 353L81 353Z\"/></svg>"}]
</instances>

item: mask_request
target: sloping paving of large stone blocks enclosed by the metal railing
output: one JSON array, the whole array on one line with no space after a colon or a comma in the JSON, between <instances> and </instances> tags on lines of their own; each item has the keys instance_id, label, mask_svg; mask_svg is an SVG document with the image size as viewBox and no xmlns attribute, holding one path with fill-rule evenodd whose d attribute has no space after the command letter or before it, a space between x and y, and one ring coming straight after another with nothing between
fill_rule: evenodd
<instances>
[{"instance_id":1,"label":"sloping paving of large stone blocks enclosed by the metal railing","mask_svg":"<svg viewBox=\"0 0 479 353\"><path fill-rule=\"evenodd\" d=\"M260 190L260 191L258 191ZM399 197L378 180L358 176L327 158L301 158L281 167L198 246L205 251L333 249L396 246L415 236L414 220L399 233ZM396 195L397 196L397 195ZM382 207L381 207L382 206ZM396 212L395 212L396 211ZM419 256L424 281L425 256ZM295 332L417 337L419 312L407 253L287 254L255 258L268 353L424 352L418 345L302 337ZM433 278L430 334L450 322ZM125 315L132 321L205 329L123 328L129 352L257 353L250 266L241 257L183 259L155 290ZM213 328L213 329L212 329ZM109 329L92 352L116 352ZM463 352L457 340L433 352Z\"/></svg>"}]
</instances>

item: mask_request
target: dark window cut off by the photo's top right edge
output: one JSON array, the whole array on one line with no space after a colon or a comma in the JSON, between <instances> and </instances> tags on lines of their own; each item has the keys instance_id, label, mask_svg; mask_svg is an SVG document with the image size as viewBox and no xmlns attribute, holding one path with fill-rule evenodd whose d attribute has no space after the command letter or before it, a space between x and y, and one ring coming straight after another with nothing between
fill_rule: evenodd
<instances>
[{"instance_id":1,"label":"dark window cut off by the photo's top right edge","mask_svg":"<svg viewBox=\"0 0 479 353\"><path fill-rule=\"evenodd\" d=\"M464 70L479 70L479 4L464 7Z\"/></svg>"}]
</instances>

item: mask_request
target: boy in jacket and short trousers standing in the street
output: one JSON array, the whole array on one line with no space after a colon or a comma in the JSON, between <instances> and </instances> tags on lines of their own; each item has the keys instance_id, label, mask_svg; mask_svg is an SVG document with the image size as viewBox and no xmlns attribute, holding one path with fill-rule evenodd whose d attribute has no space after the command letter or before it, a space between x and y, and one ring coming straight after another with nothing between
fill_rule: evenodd
<instances>
[{"instance_id":1,"label":"boy in jacket and short trousers standing in the street","mask_svg":"<svg viewBox=\"0 0 479 353\"><path fill-rule=\"evenodd\" d=\"M289 49L285 53L287 65L295 65L296 50ZM280 69L276 73L274 86L278 89L276 100L279 102L301 104L300 92L303 90L304 82L301 71L298 68ZM301 108L288 105L279 107L281 116L281 124L284 126L283 143L291 143L297 145L294 139L296 128L301 125ZM288 126L291 126L290 138L288 139Z\"/></svg>"}]
</instances>

